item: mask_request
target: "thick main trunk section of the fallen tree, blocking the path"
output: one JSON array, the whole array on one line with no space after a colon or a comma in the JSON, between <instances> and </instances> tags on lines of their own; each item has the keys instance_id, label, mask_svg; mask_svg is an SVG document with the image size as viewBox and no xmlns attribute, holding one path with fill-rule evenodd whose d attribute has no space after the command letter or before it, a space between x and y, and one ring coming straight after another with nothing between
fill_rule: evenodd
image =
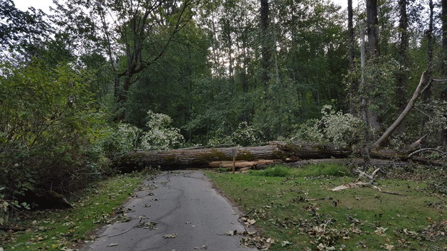
<instances>
[{"instance_id":1,"label":"thick main trunk section of the fallen tree, blocking the path","mask_svg":"<svg viewBox=\"0 0 447 251\"><path fill-rule=\"evenodd\" d=\"M211 161L232 161L234 147L212 149L175 149L169 151L133 151L115 162L123 172L142 169L145 166L163 170L208 168ZM238 161L277 159L290 162L300 159L347 158L352 149L335 144L273 141L266 146L250 146L237 149Z\"/></svg>"}]
</instances>

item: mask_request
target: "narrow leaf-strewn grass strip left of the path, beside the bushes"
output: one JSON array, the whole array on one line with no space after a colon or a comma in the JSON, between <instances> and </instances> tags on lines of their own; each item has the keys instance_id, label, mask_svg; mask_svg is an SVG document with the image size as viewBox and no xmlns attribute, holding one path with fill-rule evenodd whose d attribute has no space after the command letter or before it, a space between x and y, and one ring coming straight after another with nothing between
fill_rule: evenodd
<instances>
[{"instance_id":1,"label":"narrow leaf-strewn grass strip left of the path, beside the bushes","mask_svg":"<svg viewBox=\"0 0 447 251\"><path fill-rule=\"evenodd\" d=\"M109 223L115 210L138 188L147 173L132 173L109 178L86 188L70 210L23 212L19 225L24 232L0 232L4 250L73 250L94 239L93 230ZM25 214L26 213L26 214Z\"/></svg>"}]
</instances>

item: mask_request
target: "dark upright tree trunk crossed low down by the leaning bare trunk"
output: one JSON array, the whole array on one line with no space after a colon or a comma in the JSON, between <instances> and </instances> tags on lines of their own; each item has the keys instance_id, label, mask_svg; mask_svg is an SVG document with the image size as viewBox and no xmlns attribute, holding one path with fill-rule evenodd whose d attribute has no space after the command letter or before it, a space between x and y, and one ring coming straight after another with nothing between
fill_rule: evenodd
<instances>
[{"instance_id":1,"label":"dark upright tree trunk crossed low down by the leaning bare trunk","mask_svg":"<svg viewBox=\"0 0 447 251\"><path fill-rule=\"evenodd\" d=\"M406 107L406 86L408 79L408 71L406 70L408 65L408 46L409 46L409 38L408 38L408 17L407 17L407 7L408 3L406 0L399 0L399 32L400 32L400 41L399 41L399 63L401 65L401 70L399 75L397 76L397 90L396 90L396 100L397 106L399 107L399 111L404 111ZM397 133L401 134L404 132L405 123L402 122L397 129Z\"/></svg>"}]
</instances>

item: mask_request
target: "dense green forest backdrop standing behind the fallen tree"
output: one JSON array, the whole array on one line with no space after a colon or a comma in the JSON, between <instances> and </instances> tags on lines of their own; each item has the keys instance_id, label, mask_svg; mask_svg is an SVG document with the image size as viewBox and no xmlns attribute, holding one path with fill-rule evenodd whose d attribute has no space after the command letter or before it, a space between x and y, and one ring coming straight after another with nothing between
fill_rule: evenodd
<instances>
[{"instance_id":1,"label":"dense green forest backdrop standing behind the fallen tree","mask_svg":"<svg viewBox=\"0 0 447 251\"><path fill-rule=\"evenodd\" d=\"M0 224L135 149L445 152L447 1L347 2L0 0Z\"/></svg>"}]
</instances>

